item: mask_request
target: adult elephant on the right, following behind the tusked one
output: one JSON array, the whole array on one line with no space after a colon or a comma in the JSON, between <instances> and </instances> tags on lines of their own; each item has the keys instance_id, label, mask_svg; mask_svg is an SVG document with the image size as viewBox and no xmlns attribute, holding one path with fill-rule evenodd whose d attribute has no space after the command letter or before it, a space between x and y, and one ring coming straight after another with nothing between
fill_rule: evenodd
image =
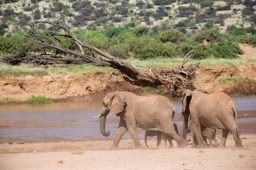
<instances>
[{"instance_id":1,"label":"adult elephant on the right, following behind the tusked one","mask_svg":"<svg viewBox=\"0 0 256 170\"><path fill-rule=\"evenodd\" d=\"M182 98L183 138L186 139L189 115L198 145L204 148L201 125L207 128L222 129L222 138L218 148L226 148L226 139L232 133L236 148L243 148L238 135L237 108L229 95L223 92L211 94L200 91L184 91ZM235 121L236 119L236 121Z\"/></svg>"}]
</instances>

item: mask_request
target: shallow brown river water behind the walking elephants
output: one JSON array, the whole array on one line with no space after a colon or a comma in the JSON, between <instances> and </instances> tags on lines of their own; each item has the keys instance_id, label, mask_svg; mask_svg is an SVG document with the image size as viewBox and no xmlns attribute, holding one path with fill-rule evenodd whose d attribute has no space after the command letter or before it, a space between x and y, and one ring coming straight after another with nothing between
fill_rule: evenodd
<instances>
[{"instance_id":1,"label":"shallow brown river water behind the walking elephants","mask_svg":"<svg viewBox=\"0 0 256 170\"><path fill-rule=\"evenodd\" d=\"M256 95L232 96L238 111L256 110ZM177 113L181 113L180 98L170 98ZM7 141L67 141L113 139L119 124L119 117L107 117L106 131L109 137L101 135L99 115L102 101L65 102L50 104L18 104L0 106L0 143ZM241 117L238 123L256 123L256 117ZM180 129L182 121L178 121ZM238 125L239 127L239 125ZM242 126L242 128L246 126ZM243 129L239 128L240 132ZM249 131L256 133L256 128ZM145 131L138 128L139 138ZM123 138L130 138L128 132Z\"/></svg>"}]
</instances>

